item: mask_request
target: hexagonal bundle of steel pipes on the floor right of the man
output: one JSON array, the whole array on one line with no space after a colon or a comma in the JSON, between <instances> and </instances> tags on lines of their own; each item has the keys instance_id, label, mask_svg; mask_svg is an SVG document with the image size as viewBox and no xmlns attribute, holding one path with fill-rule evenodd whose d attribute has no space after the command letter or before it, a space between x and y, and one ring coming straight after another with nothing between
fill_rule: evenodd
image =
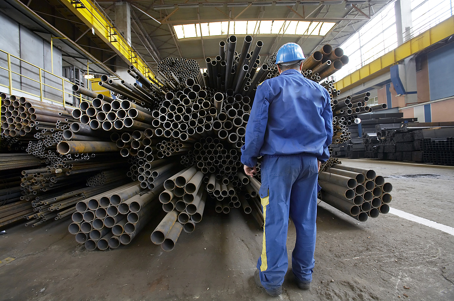
<instances>
[{"instance_id":1,"label":"hexagonal bundle of steel pipes on the floor right of the man","mask_svg":"<svg viewBox=\"0 0 454 301\"><path fill-rule=\"evenodd\" d=\"M359 221L389 212L392 185L373 170L334 164L320 171L318 183L322 201Z\"/></svg>"}]
</instances>

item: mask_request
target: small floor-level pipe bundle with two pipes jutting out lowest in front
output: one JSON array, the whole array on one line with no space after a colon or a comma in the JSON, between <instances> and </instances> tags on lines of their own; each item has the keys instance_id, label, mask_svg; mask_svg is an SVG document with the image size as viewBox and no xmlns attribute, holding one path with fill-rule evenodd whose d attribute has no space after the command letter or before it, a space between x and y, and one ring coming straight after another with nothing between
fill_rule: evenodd
<instances>
[{"instance_id":1,"label":"small floor-level pipe bundle with two pipes jutting out lowest in front","mask_svg":"<svg viewBox=\"0 0 454 301\"><path fill-rule=\"evenodd\" d=\"M151 234L151 241L164 251L175 248L182 230L192 233L195 224L202 220L206 202L205 181L214 175L204 176L195 166L187 167L163 182L165 189L159 195L162 209L167 212Z\"/></svg>"}]
</instances>

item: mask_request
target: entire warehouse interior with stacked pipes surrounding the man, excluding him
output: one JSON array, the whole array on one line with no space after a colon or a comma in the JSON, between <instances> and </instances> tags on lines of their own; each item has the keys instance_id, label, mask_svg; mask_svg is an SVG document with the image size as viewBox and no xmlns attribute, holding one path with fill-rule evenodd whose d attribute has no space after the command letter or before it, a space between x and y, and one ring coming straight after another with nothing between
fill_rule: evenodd
<instances>
[{"instance_id":1,"label":"entire warehouse interior with stacked pipes surrounding the man, excluding him","mask_svg":"<svg viewBox=\"0 0 454 301\"><path fill-rule=\"evenodd\" d=\"M0 300L453 300L452 0L0 2ZM241 147L276 52L329 93L312 286L271 297ZM231 71L230 71L231 70ZM289 262L295 246L290 221Z\"/></svg>"}]
</instances>

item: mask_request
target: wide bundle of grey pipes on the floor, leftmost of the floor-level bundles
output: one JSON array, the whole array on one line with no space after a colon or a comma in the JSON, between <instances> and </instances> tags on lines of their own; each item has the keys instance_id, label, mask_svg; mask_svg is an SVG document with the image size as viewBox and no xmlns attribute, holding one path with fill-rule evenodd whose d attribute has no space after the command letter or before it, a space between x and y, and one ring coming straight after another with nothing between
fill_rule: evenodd
<instances>
[{"instance_id":1,"label":"wide bundle of grey pipes on the floor, leftmost of the floor-level bundles","mask_svg":"<svg viewBox=\"0 0 454 301\"><path fill-rule=\"evenodd\" d=\"M110 187L76 204L68 231L88 251L128 245L159 212L158 194L163 184L145 191L138 181Z\"/></svg>"}]
</instances>

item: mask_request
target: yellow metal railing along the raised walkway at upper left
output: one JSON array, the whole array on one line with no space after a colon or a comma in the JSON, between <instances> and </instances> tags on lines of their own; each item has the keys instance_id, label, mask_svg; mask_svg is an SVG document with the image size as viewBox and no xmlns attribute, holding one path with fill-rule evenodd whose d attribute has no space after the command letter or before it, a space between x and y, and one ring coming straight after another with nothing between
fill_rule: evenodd
<instances>
[{"instance_id":1,"label":"yellow metal railing along the raised walkway at upper left","mask_svg":"<svg viewBox=\"0 0 454 301\"><path fill-rule=\"evenodd\" d=\"M3 70L6 70L8 72L8 82L9 82L9 86L6 86L6 85L3 85L3 84L0 84L0 86L2 87L5 87L5 88L8 88L9 89L9 94L10 95L13 95L16 92L21 92L21 93L24 93L24 94L27 94L27 95L30 95L30 96L34 96L34 97L37 97L39 100L43 101L43 100L46 100L46 101L50 101L52 103L56 103L56 104L60 104L60 105L63 105L63 107L66 107L67 105L65 104L65 94L67 94L68 96L75 96L75 97L79 97L81 100L82 100L82 95L75 95L73 94L73 91L65 91L65 83L68 83L70 84L71 86L73 85L73 83L71 83L70 81L68 81L67 79L65 78L62 78L62 77L59 77L59 76L56 76L55 74L53 74L52 72L49 72L49 71L46 71L44 70L43 68L41 67L38 67L32 63L29 63L25 60L23 60L22 58L20 57L17 57L11 53L8 53L2 49L0 49L0 54L6 54L7 55L7 60L8 60L8 68L5 68L3 66L0 65L0 69L3 69ZM31 66L31 67L34 67L36 68L37 70L37 75L39 77L39 79L32 79L30 77L27 77L27 76L24 76L23 74L21 73L18 73L18 72L15 72L13 71L12 69L12 62L11 60L12 59L16 59L20 64L21 64L21 68L27 68L28 66ZM25 63L26 65L22 65L22 63ZM19 89L19 88L15 88L13 87L13 76L14 74L18 75L20 78L21 78L21 81L20 83L22 83L22 79L28 79L34 83L36 83L36 88L34 89L37 89L37 87L39 86L39 95L37 94L34 94L34 93L31 93L29 91L25 91L25 90L22 90L22 89ZM49 77L52 77L52 79L49 79L48 77L46 77L47 80L51 80L52 82L55 83L55 85L57 87L52 87L46 83L44 83L44 77L45 77L45 74L49 74ZM59 84L56 84L56 82L58 82ZM61 84L60 84L61 83ZM50 99L50 98L46 98L44 97L44 94L45 93L50 93L50 91L45 91L45 87L48 87L50 89L53 89L55 91L60 91L62 92L62 101L58 101L58 100L54 100L54 99ZM70 106L72 107L72 106Z\"/></svg>"}]
</instances>

